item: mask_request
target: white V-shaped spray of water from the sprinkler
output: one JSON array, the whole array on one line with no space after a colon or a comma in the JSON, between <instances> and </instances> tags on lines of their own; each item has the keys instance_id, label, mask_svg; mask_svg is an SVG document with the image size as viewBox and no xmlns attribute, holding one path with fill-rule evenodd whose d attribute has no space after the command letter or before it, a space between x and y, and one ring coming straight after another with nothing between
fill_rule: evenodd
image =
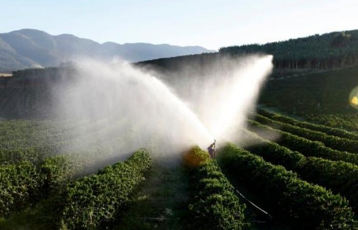
<instances>
[{"instance_id":1,"label":"white V-shaped spray of water from the sprinkler","mask_svg":"<svg viewBox=\"0 0 358 230\"><path fill-rule=\"evenodd\" d=\"M167 156L193 145L206 149L212 140L215 145L216 140L235 142L272 69L272 56L220 58L205 67L189 65L166 73L169 80L163 82L160 73L149 74L128 63L80 60L76 81L54 91L58 105L54 113L77 119L126 118L127 128L108 137L114 139L136 127L123 153L147 147L154 137L156 151Z\"/></svg>"}]
</instances>

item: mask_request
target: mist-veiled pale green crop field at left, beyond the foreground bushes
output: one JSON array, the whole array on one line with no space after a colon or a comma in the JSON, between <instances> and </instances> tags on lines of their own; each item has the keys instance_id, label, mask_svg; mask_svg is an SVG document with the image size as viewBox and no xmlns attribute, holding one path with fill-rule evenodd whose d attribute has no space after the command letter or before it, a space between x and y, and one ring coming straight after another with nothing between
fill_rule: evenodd
<instances>
[{"instance_id":1,"label":"mist-veiled pale green crop field at left, beyond the foreground bushes","mask_svg":"<svg viewBox=\"0 0 358 230\"><path fill-rule=\"evenodd\" d=\"M89 121L0 121L0 165L28 160L36 166L54 155L70 156L77 175L94 173L94 164L114 157L133 135L132 130L117 135L125 120ZM110 124L110 125L109 125ZM115 136L115 138L114 138ZM102 162L103 167L108 165ZM76 165L76 166L75 166Z\"/></svg>"}]
</instances>

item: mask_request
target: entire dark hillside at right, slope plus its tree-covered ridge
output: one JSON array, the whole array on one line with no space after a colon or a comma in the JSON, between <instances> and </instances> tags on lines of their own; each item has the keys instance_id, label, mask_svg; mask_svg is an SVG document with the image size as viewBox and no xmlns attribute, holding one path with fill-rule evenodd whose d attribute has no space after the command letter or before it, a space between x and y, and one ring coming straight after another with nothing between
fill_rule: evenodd
<instances>
[{"instance_id":1,"label":"entire dark hillside at right, slope plus its tree-covered ridge","mask_svg":"<svg viewBox=\"0 0 358 230\"><path fill-rule=\"evenodd\" d=\"M274 55L275 69L261 90L261 106L328 126L358 130L350 94L358 86L358 30L312 35L267 44L221 48L218 53L140 62L161 71L251 53ZM180 77L180 76L179 76Z\"/></svg>"}]
</instances>

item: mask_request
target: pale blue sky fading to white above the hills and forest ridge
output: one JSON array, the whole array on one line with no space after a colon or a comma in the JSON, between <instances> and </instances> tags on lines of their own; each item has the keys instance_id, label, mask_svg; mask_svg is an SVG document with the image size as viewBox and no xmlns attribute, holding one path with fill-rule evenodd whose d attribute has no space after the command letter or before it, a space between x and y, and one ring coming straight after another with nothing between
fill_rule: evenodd
<instances>
[{"instance_id":1,"label":"pale blue sky fading to white above the hills and forest ridge","mask_svg":"<svg viewBox=\"0 0 358 230\"><path fill-rule=\"evenodd\" d=\"M114 41L218 49L358 29L357 0L0 0L0 33L32 28Z\"/></svg>"}]
</instances>

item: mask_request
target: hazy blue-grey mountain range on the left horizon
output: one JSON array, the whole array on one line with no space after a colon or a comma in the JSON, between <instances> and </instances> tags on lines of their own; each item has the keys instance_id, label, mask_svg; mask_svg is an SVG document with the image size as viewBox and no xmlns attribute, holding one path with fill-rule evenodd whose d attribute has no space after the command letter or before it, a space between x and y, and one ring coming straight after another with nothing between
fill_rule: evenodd
<instances>
[{"instance_id":1,"label":"hazy blue-grey mountain range on the left horizon","mask_svg":"<svg viewBox=\"0 0 358 230\"><path fill-rule=\"evenodd\" d=\"M190 54L215 52L203 47L169 44L98 43L71 34L57 36L24 29L0 34L0 72L30 67L57 66L76 57L110 60L120 57L130 62Z\"/></svg>"}]
</instances>

